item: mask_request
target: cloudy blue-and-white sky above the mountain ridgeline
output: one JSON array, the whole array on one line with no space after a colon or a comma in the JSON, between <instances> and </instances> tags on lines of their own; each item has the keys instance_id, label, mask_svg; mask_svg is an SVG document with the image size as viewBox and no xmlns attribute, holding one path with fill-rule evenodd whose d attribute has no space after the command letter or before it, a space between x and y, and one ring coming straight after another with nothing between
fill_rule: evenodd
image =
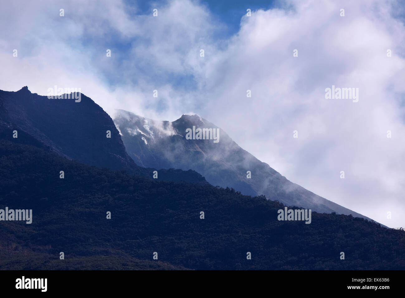
<instances>
[{"instance_id":1,"label":"cloudy blue-and-white sky above the mountain ridgeline","mask_svg":"<svg viewBox=\"0 0 405 298\"><path fill-rule=\"evenodd\" d=\"M81 88L111 116L118 108L173 121L194 112L292 182L404 227L403 5L2 2L0 89ZM332 85L358 88L358 102L325 99Z\"/></svg>"}]
</instances>

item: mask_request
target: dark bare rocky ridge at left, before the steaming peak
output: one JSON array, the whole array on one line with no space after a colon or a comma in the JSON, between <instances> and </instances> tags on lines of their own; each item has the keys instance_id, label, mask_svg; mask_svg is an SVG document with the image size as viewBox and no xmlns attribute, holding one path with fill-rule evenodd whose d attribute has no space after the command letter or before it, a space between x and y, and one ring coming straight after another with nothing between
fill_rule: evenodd
<instances>
[{"instance_id":1,"label":"dark bare rocky ridge at left, before the steaming peak","mask_svg":"<svg viewBox=\"0 0 405 298\"><path fill-rule=\"evenodd\" d=\"M134 163L113 120L99 105L84 94L78 102L72 94L65 95L68 99L48 99L31 93L27 86L17 92L0 90L0 138L34 145L87 165L152 177L155 169ZM17 131L17 138L13 131ZM158 179L207 183L194 171L174 169L159 170Z\"/></svg>"}]
</instances>

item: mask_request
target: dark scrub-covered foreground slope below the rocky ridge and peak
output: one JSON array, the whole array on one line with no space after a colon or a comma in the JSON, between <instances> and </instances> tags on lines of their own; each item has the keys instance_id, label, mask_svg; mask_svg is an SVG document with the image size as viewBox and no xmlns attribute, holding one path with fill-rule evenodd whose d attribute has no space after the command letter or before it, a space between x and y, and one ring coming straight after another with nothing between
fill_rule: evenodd
<instances>
[{"instance_id":1,"label":"dark scrub-covered foreground slope below the rocky ridge and peak","mask_svg":"<svg viewBox=\"0 0 405 298\"><path fill-rule=\"evenodd\" d=\"M0 269L405 269L403 231L316 212L310 224L279 221L284 206L264 197L92 167L0 140L5 207L32 209L32 223L0 221Z\"/></svg>"}]
</instances>

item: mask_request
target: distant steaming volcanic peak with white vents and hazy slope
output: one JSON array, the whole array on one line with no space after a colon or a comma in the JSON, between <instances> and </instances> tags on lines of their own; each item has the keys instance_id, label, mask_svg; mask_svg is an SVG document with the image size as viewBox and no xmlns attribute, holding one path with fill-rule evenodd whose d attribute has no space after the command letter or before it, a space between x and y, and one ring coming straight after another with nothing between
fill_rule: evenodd
<instances>
[{"instance_id":1,"label":"distant steaming volcanic peak with white vents and hazy slope","mask_svg":"<svg viewBox=\"0 0 405 298\"><path fill-rule=\"evenodd\" d=\"M114 123L129 156L144 167L193 169L212 185L232 187L245 195L265 195L286 206L369 219L290 182L239 147L222 129L198 115L182 115L168 122L117 110ZM193 126L219 129L219 141L186 139L186 129ZM247 171L251 172L251 178L247 178Z\"/></svg>"}]
</instances>

